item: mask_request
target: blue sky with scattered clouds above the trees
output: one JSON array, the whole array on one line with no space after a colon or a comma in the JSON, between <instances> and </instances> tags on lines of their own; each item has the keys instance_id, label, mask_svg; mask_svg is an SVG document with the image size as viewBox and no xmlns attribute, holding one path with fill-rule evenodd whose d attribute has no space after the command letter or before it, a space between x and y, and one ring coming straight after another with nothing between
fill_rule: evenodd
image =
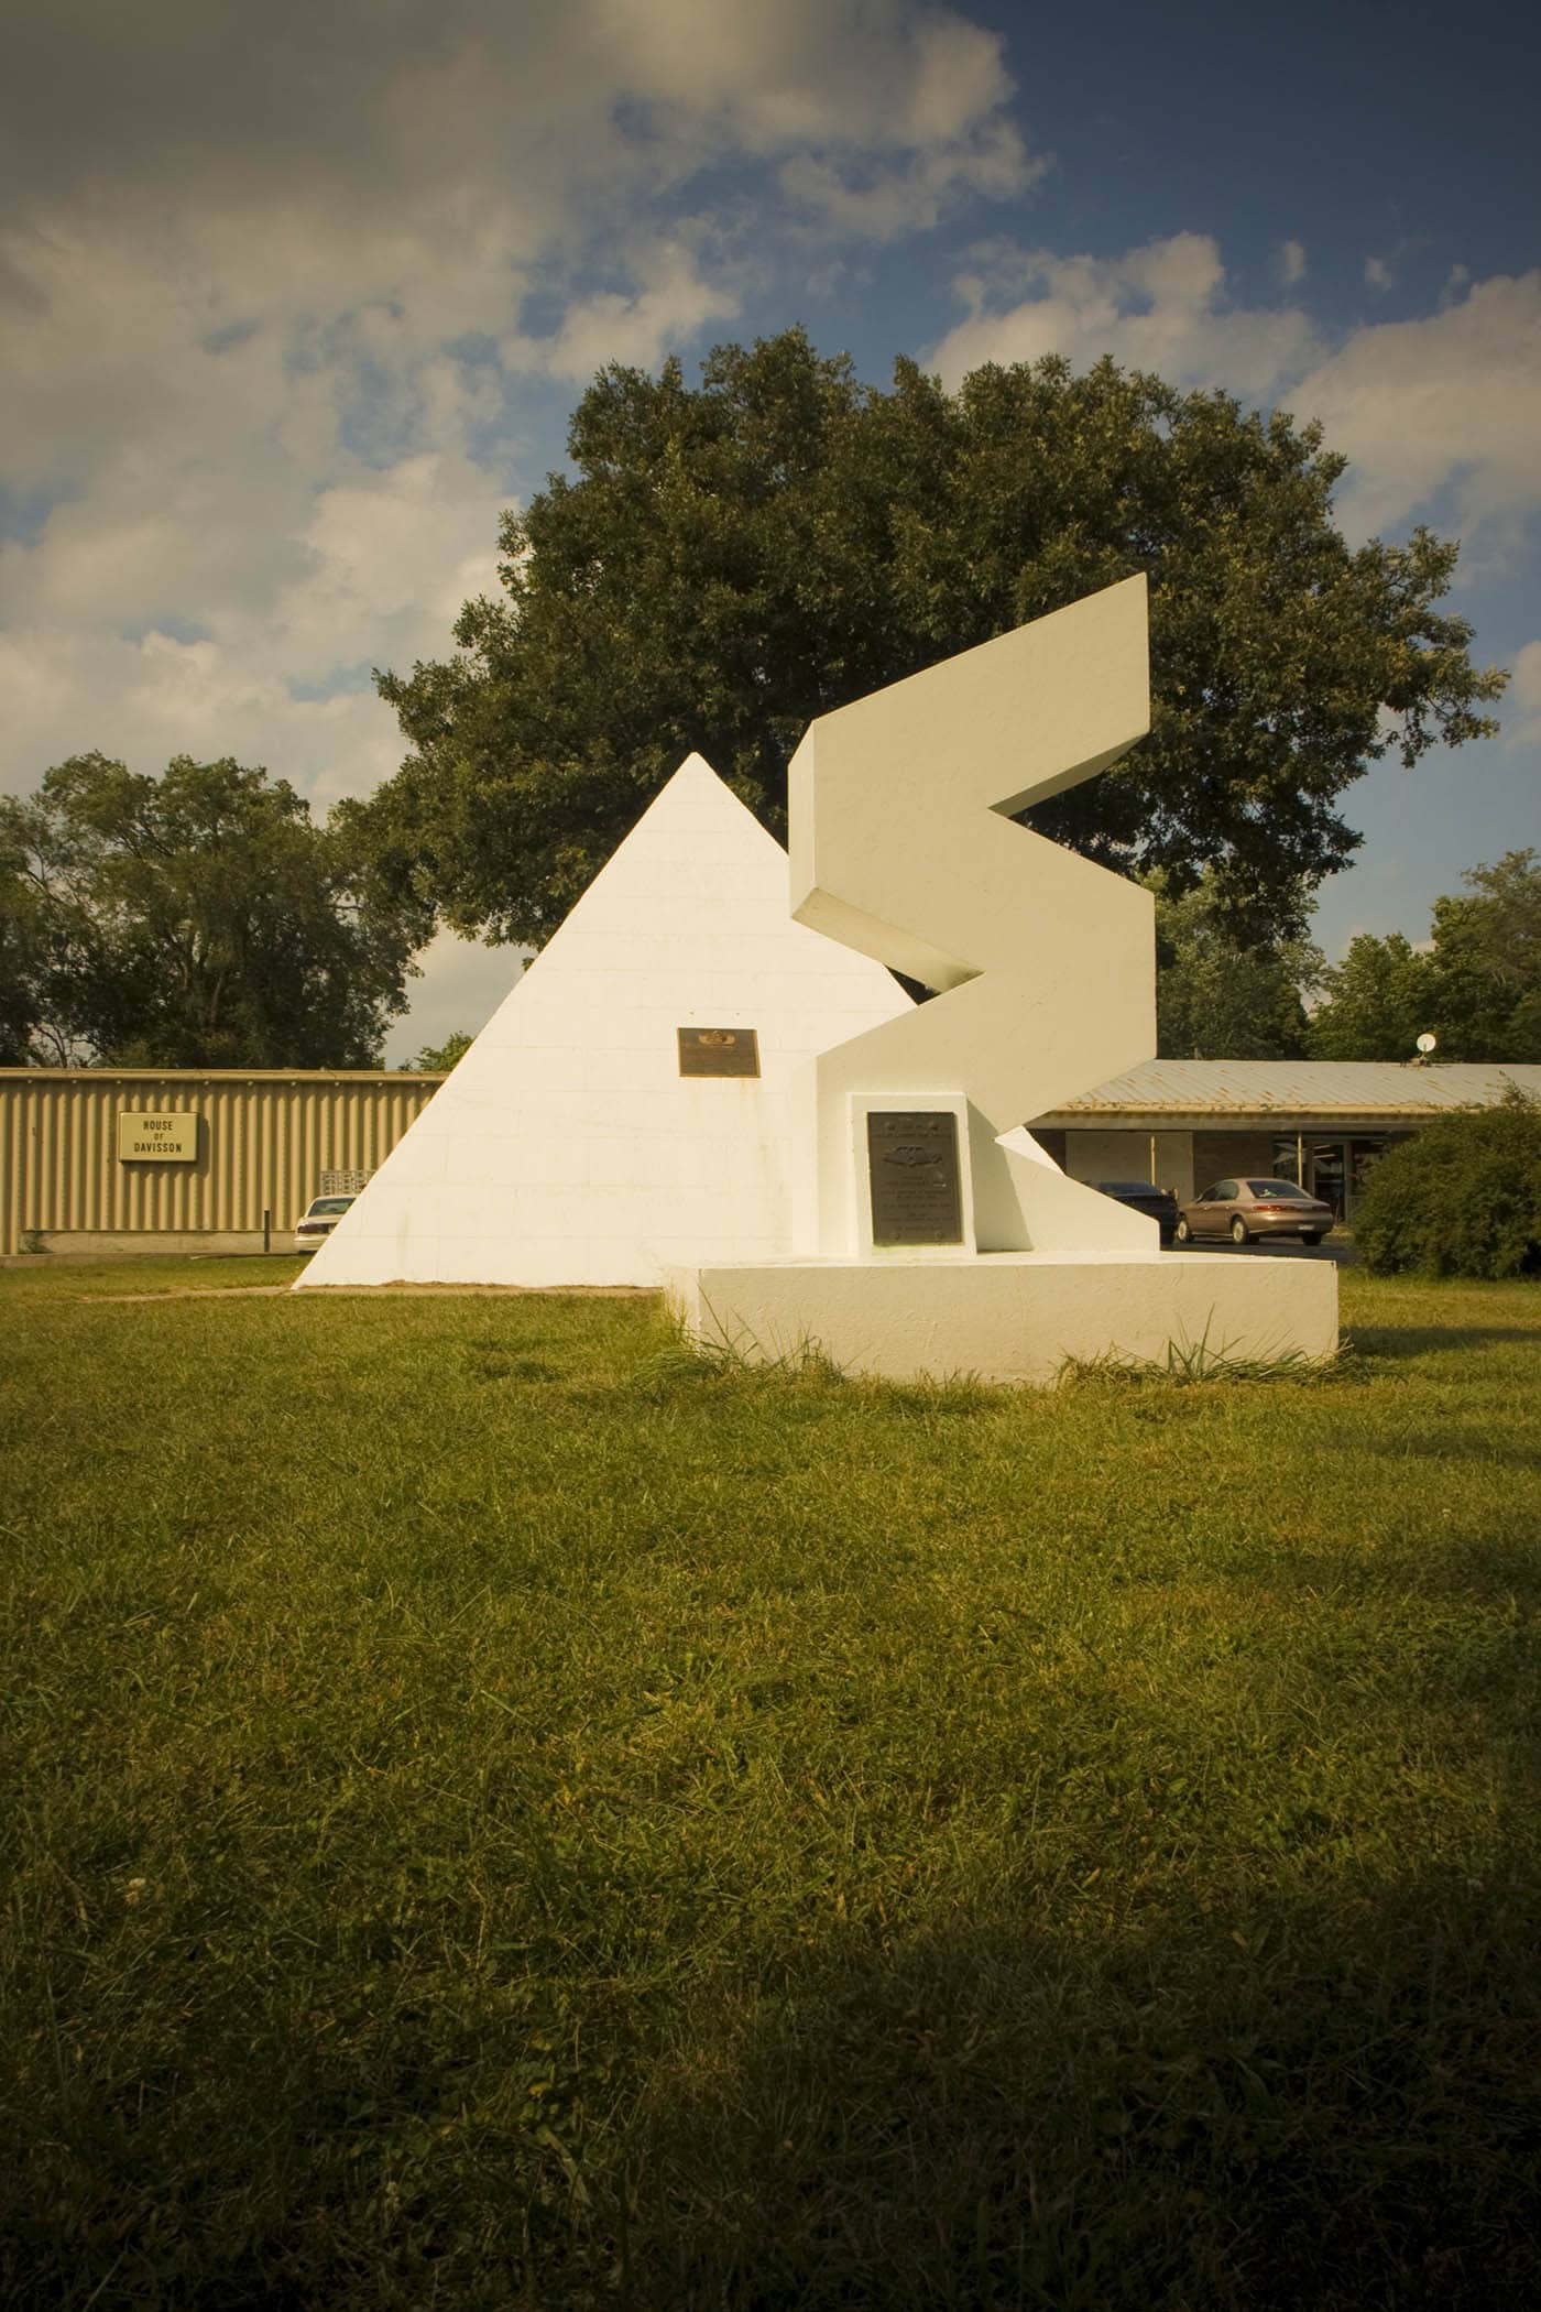
<instances>
[{"instance_id":1,"label":"blue sky with scattered clouds above the trees","mask_svg":"<svg viewBox=\"0 0 1541 2312\"><path fill-rule=\"evenodd\" d=\"M1317 934L1423 936L1541 844L1539 37L1476 5L55 0L0 141L0 786L236 754L326 807L400 756L594 370L804 321L1102 351L1322 416L1352 536L1462 539L1504 735L1347 798ZM478 1027L444 941L390 1054Z\"/></svg>"}]
</instances>

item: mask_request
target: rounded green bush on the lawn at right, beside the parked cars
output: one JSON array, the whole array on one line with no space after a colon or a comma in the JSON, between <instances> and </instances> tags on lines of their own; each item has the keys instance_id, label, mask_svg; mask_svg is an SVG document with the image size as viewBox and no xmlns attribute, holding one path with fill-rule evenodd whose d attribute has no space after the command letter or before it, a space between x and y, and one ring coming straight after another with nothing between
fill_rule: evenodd
<instances>
[{"instance_id":1,"label":"rounded green bush on the lawn at right, beside the parked cars","mask_svg":"<svg viewBox=\"0 0 1541 2312\"><path fill-rule=\"evenodd\" d=\"M1437 1117L1389 1149L1354 1242L1377 1276L1541 1274L1541 1103L1511 1084L1497 1107Z\"/></svg>"}]
</instances>

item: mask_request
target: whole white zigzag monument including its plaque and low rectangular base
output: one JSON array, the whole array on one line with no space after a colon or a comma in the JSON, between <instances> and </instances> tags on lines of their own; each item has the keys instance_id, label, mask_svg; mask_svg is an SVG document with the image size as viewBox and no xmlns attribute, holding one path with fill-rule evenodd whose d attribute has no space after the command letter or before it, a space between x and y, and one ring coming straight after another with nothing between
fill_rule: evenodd
<instances>
[{"instance_id":1,"label":"whole white zigzag monument including its plaque and low rectangular base","mask_svg":"<svg viewBox=\"0 0 1541 2312\"><path fill-rule=\"evenodd\" d=\"M1146 890L1010 823L1148 728L1146 583L820 717L792 913L940 990L797 1084L795 1258L691 1262L698 1339L859 1373L1049 1380L1067 1357L1328 1355L1328 1262L1160 1251L1021 1128L1155 1052Z\"/></svg>"}]
</instances>

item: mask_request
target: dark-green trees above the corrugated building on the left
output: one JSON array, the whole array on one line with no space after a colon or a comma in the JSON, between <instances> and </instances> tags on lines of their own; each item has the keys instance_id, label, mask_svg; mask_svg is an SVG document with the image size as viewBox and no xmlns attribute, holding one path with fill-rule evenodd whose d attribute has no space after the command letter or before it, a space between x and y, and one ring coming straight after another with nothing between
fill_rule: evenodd
<instances>
[{"instance_id":1,"label":"dark-green trees above the corrugated building on the left","mask_svg":"<svg viewBox=\"0 0 1541 2312\"><path fill-rule=\"evenodd\" d=\"M423 922L266 770L102 754L0 802L0 1057L367 1068Z\"/></svg>"}]
</instances>

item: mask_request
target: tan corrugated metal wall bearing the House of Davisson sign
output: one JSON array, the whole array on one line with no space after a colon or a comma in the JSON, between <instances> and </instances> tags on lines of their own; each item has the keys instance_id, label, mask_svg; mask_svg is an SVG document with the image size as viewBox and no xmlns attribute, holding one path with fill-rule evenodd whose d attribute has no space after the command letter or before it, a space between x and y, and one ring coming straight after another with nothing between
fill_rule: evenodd
<instances>
[{"instance_id":1,"label":"tan corrugated metal wall bearing the House of Davisson sign","mask_svg":"<svg viewBox=\"0 0 1541 2312\"><path fill-rule=\"evenodd\" d=\"M0 1068L0 1253L49 1235L284 1237L323 1170L374 1172L437 1075ZM194 1163L120 1163L122 1110L199 1117Z\"/></svg>"}]
</instances>

